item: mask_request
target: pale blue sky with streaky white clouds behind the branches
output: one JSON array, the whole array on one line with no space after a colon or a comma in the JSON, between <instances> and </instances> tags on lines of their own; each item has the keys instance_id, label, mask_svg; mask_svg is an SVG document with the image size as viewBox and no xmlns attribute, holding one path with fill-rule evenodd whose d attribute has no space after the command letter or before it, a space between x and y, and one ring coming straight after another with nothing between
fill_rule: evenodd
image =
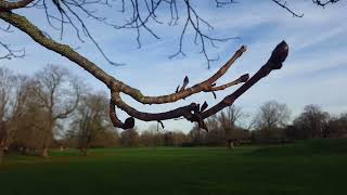
<instances>
[{"instance_id":1,"label":"pale blue sky with streaky white clouds behind the branches","mask_svg":"<svg viewBox=\"0 0 347 195\"><path fill-rule=\"evenodd\" d=\"M117 79L140 89L144 94L159 95L174 92L184 76L189 76L191 84L206 79L242 44L247 46L247 52L235 62L218 83L228 82L246 73L253 75L268 60L272 49L280 41L285 40L290 46L290 55L283 68L271 73L254 86L235 102L235 105L249 114L255 113L264 102L269 100L286 103L292 110L292 116L300 113L307 104L319 104L323 109L336 115L347 112L346 1L325 9L313 5L310 0L290 1L291 8L298 13L304 13L301 18L293 17L271 1L254 3L245 0L223 9L211 9L215 8L213 2L204 1L206 4L198 4L201 15L215 27L210 34L217 37L240 37L241 39L228 41L219 44L218 49L209 50L211 56L219 56L219 61L214 62L210 69L206 68L205 58L189 39L183 48L188 56L168 58L168 55L178 49L180 25L183 21L179 21L179 25L175 27L154 25L154 29L162 39L156 40L144 32L142 49L137 49L134 31L119 31L92 21L88 22L91 32L106 54L116 62L127 64L121 67L107 64L91 42L76 41L76 37L68 29L62 41L73 47L80 47L78 51L82 55ZM40 11L27 9L20 13L28 16L40 28L52 31L42 20ZM118 23L123 22L123 17L114 10L107 10L103 14L110 18L120 18ZM167 16L165 12L160 14L164 18ZM3 23L1 22L0 25ZM189 34L192 35L191 31ZM57 32L53 31L51 35L59 40ZM34 74L47 64L57 64L68 68L91 88L107 90L101 81L88 75L79 66L43 49L23 32L0 31L0 39L11 42L13 47L25 47L27 54L23 60L0 61L2 67L8 67L15 73ZM126 101L140 110L164 112L191 102L203 103L205 100L213 105L234 89L218 92L217 100L214 100L209 93L202 93L169 105L141 105L128 98ZM123 113L120 118L125 117ZM150 125L151 122L137 121L140 129L146 129ZM165 121L165 126L168 130L187 132L192 123L184 120L169 120Z\"/></svg>"}]
</instances>

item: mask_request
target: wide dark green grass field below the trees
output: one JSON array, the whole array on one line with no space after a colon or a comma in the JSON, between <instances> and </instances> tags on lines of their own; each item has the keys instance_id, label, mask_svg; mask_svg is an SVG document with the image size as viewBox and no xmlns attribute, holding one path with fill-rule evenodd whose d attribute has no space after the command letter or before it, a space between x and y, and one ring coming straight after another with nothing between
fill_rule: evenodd
<instances>
[{"instance_id":1,"label":"wide dark green grass field below the trees","mask_svg":"<svg viewBox=\"0 0 347 195\"><path fill-rule=\"evenodd\" d=\"M347 140L226 148L94 150L10 156L0 194L347 194Z\"/></svg>"}]
</instances>

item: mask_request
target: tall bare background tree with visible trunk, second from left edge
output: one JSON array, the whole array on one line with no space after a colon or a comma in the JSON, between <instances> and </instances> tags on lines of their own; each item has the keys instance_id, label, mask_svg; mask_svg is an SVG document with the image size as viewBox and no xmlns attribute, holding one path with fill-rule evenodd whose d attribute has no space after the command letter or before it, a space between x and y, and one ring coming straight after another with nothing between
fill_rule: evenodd
<instances>
[{"instance_id":1,"label":"tall bare background tree with visible trunk, second from left edge","mask_svg":"<svg viewBox=\"0 0 347 195\"><path fill-rule=\"evenodd\" d=\"M54 128L59 119L67 118L78 105L79 86L66 69L48 65L35 76L38 84L36 95L41 106L47 109L48 127L42 140L41 155L48 156L48 147L54 135Z\"/></svg>"}]
</instances>

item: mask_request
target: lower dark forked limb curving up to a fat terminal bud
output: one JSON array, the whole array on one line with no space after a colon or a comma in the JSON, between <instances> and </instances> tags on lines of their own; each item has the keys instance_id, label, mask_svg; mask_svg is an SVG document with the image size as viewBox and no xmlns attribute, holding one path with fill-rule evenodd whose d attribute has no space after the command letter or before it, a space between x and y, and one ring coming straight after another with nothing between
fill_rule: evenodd
<instances>
[{"instance_id":1,"label":"lower dark forked limb curving up to a fat terminal bud","mask_svg":"<svg viewBox=\"0 0 347 195\"><path fill-rule=\"evenodd\" d=\"M187 106L182 106L169 112L165 113L143 113L139 112L136 108L126 104L120 95L119 91L112 91L112 101L110 107L110 115L112 116L112 121L115 127L123 128L125 123L123 123L116 116L115 116L115 106L119 107L120 109L125 110L131 117L138 118L144 121L152 121L152 120L167 120L174 119L179 117L184 117L189 121L196 121L200 128L206 129L204 123L204 119L220 112L227 106L230 106L234 103L234 101L240 98L244 92L246 92L250 87L253 87L256 82L258 82L261 78L269 75L273 69L280 69L282 67L282 63L285 61L288 54L288 46L282 41L280 44L275 47L272 51L272 54L268 62L243 86L241 86L235 92L231 93L230 95L226 96L221 102L213 106L211 108L204 110L207 107L207 104L204 103L202 108L200 108L200 104L192 103ZM242 76L239 79L245 80L247 76ZM128 118L129 119L129 118ZM127 120L128 120L127 119ZM134 125L134 123L132 123ZM133 126L132 126L133 127ZM130 127L130 128L132 128Z\"/></svg>"}]
</instances>

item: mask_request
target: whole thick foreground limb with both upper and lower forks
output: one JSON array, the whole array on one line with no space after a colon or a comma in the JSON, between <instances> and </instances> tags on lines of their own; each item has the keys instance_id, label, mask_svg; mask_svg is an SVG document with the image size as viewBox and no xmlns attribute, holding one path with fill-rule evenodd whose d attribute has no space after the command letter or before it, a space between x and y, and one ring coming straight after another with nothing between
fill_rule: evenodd
<instances>
[{"instance_id":1,"label":"whole thick foreground limb with both upper and lower forks","mask_svg":"<svg viewBox=\"0 0 347 195\"><path fill-rule=\"evenodd\" d=\"M75 62L80 67L85 68L95 78L104 82L111 90L112 93L112 101L110 103L110 116L115 127L118 128L132 128L134 125L134 119L138 118L144 121L162 121L167 119L174 119L179 117L184 117L189 121L196 121L201 128L206 129L204 123L204 119L216 114L217 112L221 110L222 108L232 105L233 102L241 96L245 91L247 91L252 86L254 86L258 80L266 77L270 74L273 69L279 69L282 67L282 63L287 56L288 47L283 41L281 42L272 52L271 57L269 61L258 70L256 75L254 75L249 80L248 76L244 75L240 77L236 81L230 82L220 87L215 87L215 81L217 81L221 76L223 76L230 66L239 58L243 52L246 51L245 47L241 47L234 55L210 78L206 79L203 82L200 82L191 88L187 88L188 79L184 79L183 88L179 90L177 93L171 93L168 95L162 96L144 96L139 90L131 88L124 82L115 79L114 77L107 75L104 70L98 67L94 63L90 62L88 58L83 57L76 51L74 51L70 47L66 44L61 44L48 37L46 37L40 29L38 29L35 25L33 25L26 17L21 16L18 14L14 14L11 12L0 12L0 18L10 23L11 25L20 28L22 31L29 35L36 42L46 47L49 50L52 50L56 53L62 54L63 56L69 58L70 61ZM248 80L248 81L247 81ZM217 90L226 89L230 86L235 84L236 82L244 82L246 81L241 88L239 88L232 94L226 96L221 102L213 106L211 108L204 110L207 108L204 105L204 108L200 107L200 104L192 103L187 106L182 106L172 110L164 112L164 113L143 113L139 112L136 108L126 104L121 99L119 93L125 93L141 102L143 104L164 104L169 102L176 102L178 100L184 99L192 94L198 92L214 92ZM120 109L125 110L131 117L128 118L125 122L121 122L115 112L115 105ZM133 118L132 118L133 117Z\"/></svg>"}]
</instances>

